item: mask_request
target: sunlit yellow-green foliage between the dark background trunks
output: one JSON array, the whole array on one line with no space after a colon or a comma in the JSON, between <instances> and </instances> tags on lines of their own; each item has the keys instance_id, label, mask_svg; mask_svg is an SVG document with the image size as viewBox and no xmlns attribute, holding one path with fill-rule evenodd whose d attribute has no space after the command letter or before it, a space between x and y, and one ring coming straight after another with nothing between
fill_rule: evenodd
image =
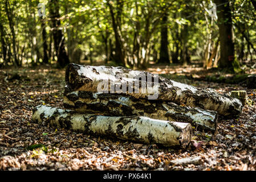
<instances>
[{"instance_id":1,"label":"sunlit yellow-green foliage between the dark background trunks","mask_svg":"<svg viewBox=\"0 0 256 182\"><path fill-rule=\"evenodd\" d=\"M6 2L10 6L6 9ZM13 65L13 35L16 38L17 57L24 66L43 63L44 46L47 44L48 63L56 63L52 38L52 17L50 1L47 0L3 0L0 2L0 64ZM60 24L56 27L63 32L66 50L71 61L79 63L84 57L91 63L98 60L111 61L111 65L121 65L116 55L116 34L119 35L121 49L127 67L148 65L156 61L160 52L161 27L168 26L170 59L176 63L182 60L184 46L188 57L199 57L205 61L205 52L210 42L210 52L218 39L218 26L208 14L210 1L167 1L167 0L60 0ZM46 5L46 16L38 15L38 3ZM56 6L56 5L54 5ZM221 5L222 6L222 5ZM226 5L223 5L226 6ZM113 10L113 17L110 12ZM13 27L9 25L7 11L11 12ZM256 11L250 1L235 0L231 3L232 20L235 27L236 57L243 57L233 63L234 72L241 72L239 61L250 56L255 58L256 46L246 46L248 41L255 45ZM164 14L168 15L166 24L161 24ZM117 24L117 33L113 21ZM226 21L226 20L224 20ZM187 30L184 29L187 27ZM43 29L46 37L43 38ZM186 30L186 31L184 31ZM186 32L186 34L184 34ZM184 42L186 44L184 44ZM5 48L7 51L5 51ZM80 53L79 53L80 52ZM5 53L7 54L4 57ZM175 57L176 56L176 57ZM177 59L177 60L174 60Z\"/></svg>"}]
</instances>

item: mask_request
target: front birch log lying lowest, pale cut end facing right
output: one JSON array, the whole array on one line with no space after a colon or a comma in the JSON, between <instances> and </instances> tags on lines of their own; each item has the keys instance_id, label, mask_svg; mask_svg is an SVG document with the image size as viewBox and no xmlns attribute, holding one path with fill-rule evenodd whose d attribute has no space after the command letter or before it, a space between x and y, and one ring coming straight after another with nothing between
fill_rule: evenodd
<instances>
[{"instance_id":1,"label":"front birch log lying lowest, pale cut end facing right","mask_svg":"<svg viewBox=\"0 0 256 182\"><path fill-rule=\"evenodd\" d=\"M148 117L109 117L81 114L72 110L39 105L33 109L32 121L40 125L64 127L92 135L104 135L164 146L186 147L192 137L190 123L162 121Z\"/></svg>"}]
</instances>

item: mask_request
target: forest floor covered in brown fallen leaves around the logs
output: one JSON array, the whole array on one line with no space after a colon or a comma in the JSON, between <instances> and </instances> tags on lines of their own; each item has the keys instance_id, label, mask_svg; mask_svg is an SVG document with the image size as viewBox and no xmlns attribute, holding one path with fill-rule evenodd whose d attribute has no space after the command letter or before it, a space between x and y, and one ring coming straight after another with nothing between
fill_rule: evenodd
<instances>
[{"instance_id":1,"label":"forest floor covered in brown fallen leaves around the logs","mask_svg":"<svg viewBox=\"0 0 256 182\"><path fill-rule=\"evenodd\" d=\"M193 80L214 75L202 68L153 67L150 72L219 93L246 90L256 102L255 89L244 84ZM248 73L256 73L255 69ZM190 77L190 78L189 78ZM186 149L167 148L52 129L31 122L40 104L63 108L64 69L0 70L1 170L255 170L256 104L245 105L239 118L220 118L214 135L193 129ZM194 159L185 164L172 160Z\"/></svg>"}]
</instances>

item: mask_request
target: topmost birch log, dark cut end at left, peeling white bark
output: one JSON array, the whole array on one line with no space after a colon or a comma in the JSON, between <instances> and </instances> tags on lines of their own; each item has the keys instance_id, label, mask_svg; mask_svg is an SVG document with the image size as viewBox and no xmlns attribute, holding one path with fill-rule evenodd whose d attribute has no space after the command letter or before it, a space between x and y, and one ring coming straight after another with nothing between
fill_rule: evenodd
<instances>
[{"instance_id":1,"label":"topmost birch log, dark cut end at left, peeling white bark","mask_svg":"<svg viewBox=\"0 0 256 182\"><path fill-rule=\"evenodd\" d=\"M218 114L237 117L242 103L237 98L212 89L201 89L144 71L123 67L93 67L69 64L66 84L72 91L125 93L135 98L172 101L191 107L217 111ZM134 91L133 91L134 90Z\"/></svg>"}]
</instances>

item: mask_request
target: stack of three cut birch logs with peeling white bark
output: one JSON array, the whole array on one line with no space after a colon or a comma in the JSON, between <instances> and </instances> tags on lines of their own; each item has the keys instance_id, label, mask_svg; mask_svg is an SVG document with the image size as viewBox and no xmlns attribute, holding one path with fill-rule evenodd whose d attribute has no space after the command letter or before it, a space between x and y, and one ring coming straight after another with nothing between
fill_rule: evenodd
<instances>
[{"instance_id":1,"label":"stack of three cut birch logs with peeling white bark","mask_svg":"<svg viewBox=\"0 0 256 182\"><path fill-rule=\"evenodd\" d=\"M145 76L152 79L142 79ZM97 92L103 82L107 90ZM135 82L139 89L129 92L129 85ZM144 89L142 85L148 84L153 86ZM119 90L111 90L109 85ZM157 97L149 100L156 93ZM32 120L87 134L181 147L190 142L192 126L214 133L218 115L237 117L242 111L237 98L211 89L123 67L78 64L67 67L63 102L64 110L36 106Z\"/></svg>"}]
</instances>

